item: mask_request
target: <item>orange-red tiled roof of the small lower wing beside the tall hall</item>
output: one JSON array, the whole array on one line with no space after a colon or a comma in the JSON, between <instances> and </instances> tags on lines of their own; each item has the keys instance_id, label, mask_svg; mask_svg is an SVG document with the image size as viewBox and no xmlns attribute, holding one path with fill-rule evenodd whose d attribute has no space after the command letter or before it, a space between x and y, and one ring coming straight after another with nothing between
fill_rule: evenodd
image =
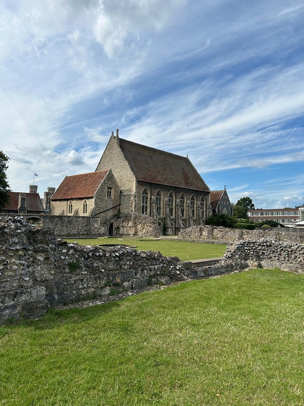
<instances>
[{"instance_id":1,"label":"orange-red tiled roof of the small lower wing beside the tall hall","mask_svg":"<svg viewBox=\"0 0 304 406\"><path fill-rule=\"evenodd\" d=\"M51 197L51 200L93 197L108 172L108 170L104 170L66 176Z\"/></svg>"}]
</instances>

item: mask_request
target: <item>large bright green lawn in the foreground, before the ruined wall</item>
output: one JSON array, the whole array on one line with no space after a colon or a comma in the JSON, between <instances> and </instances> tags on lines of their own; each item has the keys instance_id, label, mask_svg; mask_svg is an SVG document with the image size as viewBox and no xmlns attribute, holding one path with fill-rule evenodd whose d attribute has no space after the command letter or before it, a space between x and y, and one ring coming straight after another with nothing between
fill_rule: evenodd
<instances>
[{"instance_id":1,"label":"large bright green lawn in the foreground, before the ruined wall","mask_svg":"<svg viewBox=\"0 0 304 406\"><path fill-rule=\"evenodd\" d=\"M303 297L256 269L2 326L0 405L303 405Z\"/></svg>"}]
</instances>

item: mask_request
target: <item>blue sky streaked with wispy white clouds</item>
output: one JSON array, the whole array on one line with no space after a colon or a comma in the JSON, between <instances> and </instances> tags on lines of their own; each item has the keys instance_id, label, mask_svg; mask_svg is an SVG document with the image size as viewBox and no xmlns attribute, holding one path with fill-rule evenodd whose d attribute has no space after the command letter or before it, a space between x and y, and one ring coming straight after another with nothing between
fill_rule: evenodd
<instances>
[{"instance_id":1,"label":"blue sky streaked with wispy white clouds","mask_svg":"<svg viewBox=\"0 0 304 406\"><path fill-rule=\"evenodd\" d=\"M119 128L234 203L302 205L303 20L302 0L0 0L11 189L94 172Z\"/></svg>"}]
</instances>

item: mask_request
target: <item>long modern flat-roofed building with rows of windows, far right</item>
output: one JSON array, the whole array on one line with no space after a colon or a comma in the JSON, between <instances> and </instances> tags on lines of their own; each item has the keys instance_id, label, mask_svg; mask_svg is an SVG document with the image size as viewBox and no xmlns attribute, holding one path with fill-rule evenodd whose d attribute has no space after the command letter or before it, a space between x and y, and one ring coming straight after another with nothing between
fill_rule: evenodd
<instances>
[{"instance_id":1,"label":"long modern flat-roofed building with rows of windows, far right","mask_svg":"<svg viewBox=\"0 0 304 406\"><path fill-rule=\"evenodd\" d=\"M281 224L291 224L299 221L299 208L285 207L284 209L254 209L249 210L249 220L260 223L273 220Z\"/></svg>"}]
</instances>

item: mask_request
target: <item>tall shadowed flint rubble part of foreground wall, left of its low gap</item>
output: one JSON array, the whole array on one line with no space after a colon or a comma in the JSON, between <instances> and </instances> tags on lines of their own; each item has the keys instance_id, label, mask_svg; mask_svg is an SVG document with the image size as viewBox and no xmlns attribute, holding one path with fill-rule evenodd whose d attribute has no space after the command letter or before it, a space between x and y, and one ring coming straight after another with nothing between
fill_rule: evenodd
<instances>
[{"instance_id":1,"label":"tall shadowed flint rubble part of foreground wall, left of its low gap","mask_svg":"<svg viewBox=\"0 0 304 406\"><path fill-rule=\"evenodd\" d=\"M58 242L21 217L0 221L0 322L39 317L51 306L111 290L180 278L178 258L131 248ZM176 275L174 272L177 271ZM175 276L174 276L175 275Z\"/></svg>"}]
</instances>

